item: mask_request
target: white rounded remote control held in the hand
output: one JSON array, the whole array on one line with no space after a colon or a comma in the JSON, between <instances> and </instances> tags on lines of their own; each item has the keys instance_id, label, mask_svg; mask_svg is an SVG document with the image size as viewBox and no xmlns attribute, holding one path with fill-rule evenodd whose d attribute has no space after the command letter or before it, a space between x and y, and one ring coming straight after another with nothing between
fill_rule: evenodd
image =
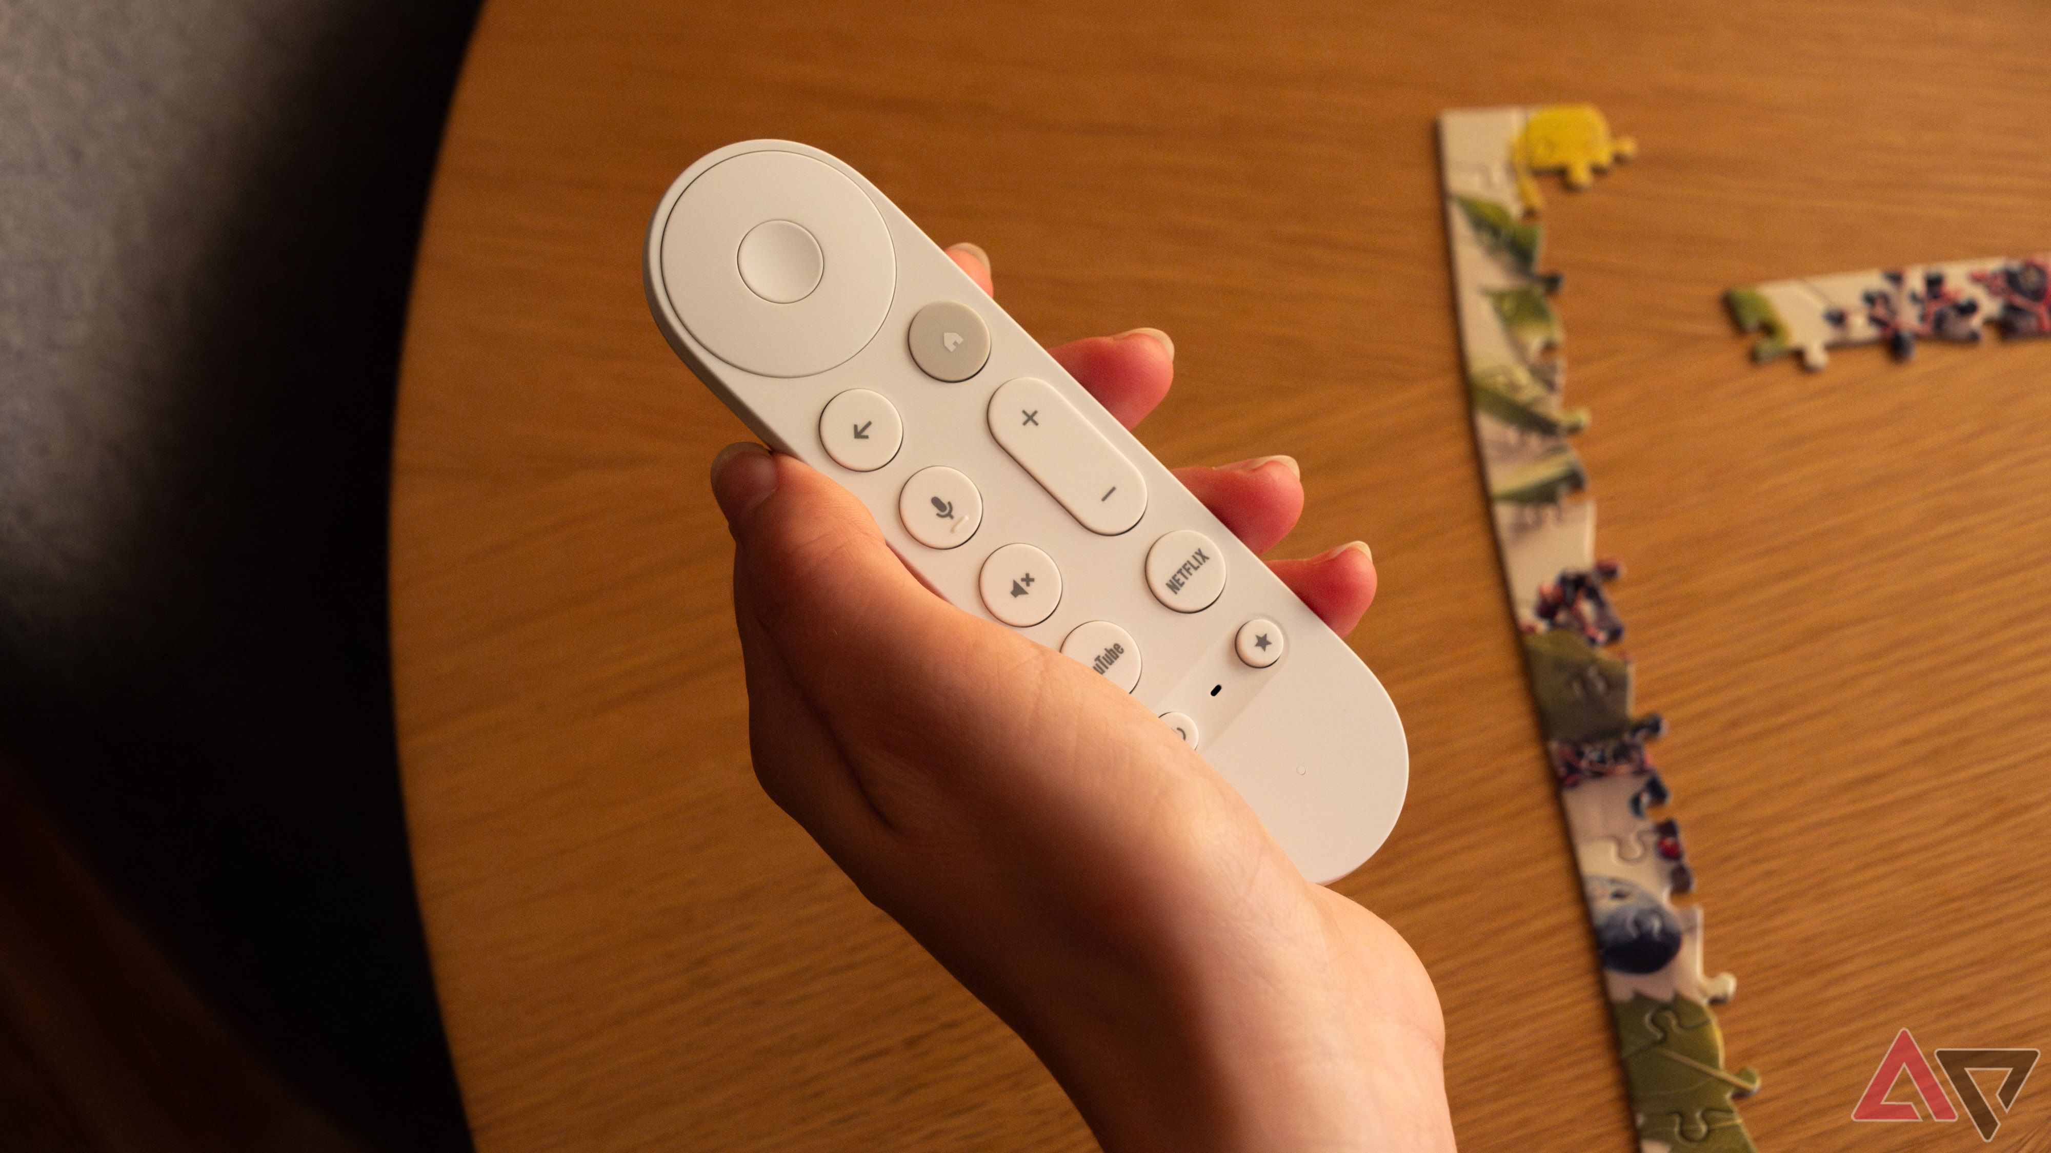
<instances>
[{"instance_id":1,"label":"white rounded remote control held in the hand","mask_svg":"<svg viewBox=\"0 0 2051 1153\"><path fill-rule=\"evenodd\" d=\"M1304 876L1403 808L1374 673L896 205L783 140L706 154L648 224L648 308L769 445L927 585L1130 691Z\"/></svg>"}]
</instances>

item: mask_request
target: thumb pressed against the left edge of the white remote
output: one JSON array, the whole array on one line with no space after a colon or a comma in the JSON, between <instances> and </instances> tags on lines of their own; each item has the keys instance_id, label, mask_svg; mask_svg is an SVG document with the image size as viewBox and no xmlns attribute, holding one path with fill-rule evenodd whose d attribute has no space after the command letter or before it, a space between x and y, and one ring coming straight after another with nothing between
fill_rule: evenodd
<instances>
[{"instance_id":1,"label":"thumb pressed against the left edge of the white remote","mask_svg":"<svg viewBox=\"0 0 2051 1153\"><path fill-rule=\"evenodd\" d=\"M798 458L740 443L712 462L734 583L800 691L829 714L948 677L974 620L904 568L870 511ZM863 710L868 712L868 710Z\"/></svg>"}]
</instances>

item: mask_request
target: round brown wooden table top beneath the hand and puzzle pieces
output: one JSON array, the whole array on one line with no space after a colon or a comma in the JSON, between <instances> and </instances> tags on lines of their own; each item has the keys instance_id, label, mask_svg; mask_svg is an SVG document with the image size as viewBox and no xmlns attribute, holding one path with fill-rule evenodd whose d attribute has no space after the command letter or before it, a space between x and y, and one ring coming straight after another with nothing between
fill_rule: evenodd
<instances>
[{"instance_id":1,"label":"round brown wooden table top beneath the hand and puzzle pieces","mask_svg":"<svg viewBox=\"0 0 2051 1153\"><path fill-rule=\"evenodd\" d=\"M1735 970L1764 1149L1852 1124L1895 1030L2051 1042L2051 341L1754 367L1719 293L2051 248L2051 8L710 6L494 0L449 125L398 419L392 630L414 866L480 1149L1085 1149L1032 1055L757 790L740 425L662 347L648 211L818 144L1044 341L1155 324L1169 464L1288 451L1284 552L1372 542L1354 636L1409 726L1339 888L1438 981L1473 1149L1635 1149L1495 572L1432 119L1585 98L1641 156L1551 265L1639 702ZM2041 1081L2043 1077L2039 1077ZM2051 1118L2030 1085L1998 1143Z\"/></svg>"}]
</instances>

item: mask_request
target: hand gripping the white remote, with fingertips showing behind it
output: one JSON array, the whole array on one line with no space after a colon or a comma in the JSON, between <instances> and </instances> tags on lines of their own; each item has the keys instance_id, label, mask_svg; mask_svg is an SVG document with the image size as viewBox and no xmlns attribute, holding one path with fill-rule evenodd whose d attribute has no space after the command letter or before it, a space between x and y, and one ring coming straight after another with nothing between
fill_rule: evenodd
<instances>
[{"instance_id":1,"label":"hand gripping the white remote, with fingertips showing behind it","mask_svg":"<svg viewBox=\"0 0 2051 1153\"><path fill-rule=\"evenodd\" d=\"M980 248L950 254L991 289ZM1175 349L1138 328L1052 355L1130 427ZM1302 511L1288 458L1177 476L1255 552ZM1452 1147L1423 966L1304 882L1202 757L935 597L798 460L730 445L712 484L763 790L1032 1044L1105 1149ZM1272 566L1339 632L1374 597L1360 544Z\"/></svg>"}]
</instances>

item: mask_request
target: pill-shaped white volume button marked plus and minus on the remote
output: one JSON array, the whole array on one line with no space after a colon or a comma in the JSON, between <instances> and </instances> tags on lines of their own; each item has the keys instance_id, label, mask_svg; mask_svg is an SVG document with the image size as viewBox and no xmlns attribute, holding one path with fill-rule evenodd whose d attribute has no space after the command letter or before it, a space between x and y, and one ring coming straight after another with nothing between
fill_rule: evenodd
<instances>
[{"instance_id":1,"label":"pill-shaped white volume button marked plus and minus on the remote","mask_svg":"<svg viewBox=\"0 0 2051 1153\"><path fill-rule=\"evenodd\" d=\"M1021 375L991 394L991 435L1085 529L1118 535L1147 513L1147 480L1052 384Z\"/></svg>"}]
</instances>

